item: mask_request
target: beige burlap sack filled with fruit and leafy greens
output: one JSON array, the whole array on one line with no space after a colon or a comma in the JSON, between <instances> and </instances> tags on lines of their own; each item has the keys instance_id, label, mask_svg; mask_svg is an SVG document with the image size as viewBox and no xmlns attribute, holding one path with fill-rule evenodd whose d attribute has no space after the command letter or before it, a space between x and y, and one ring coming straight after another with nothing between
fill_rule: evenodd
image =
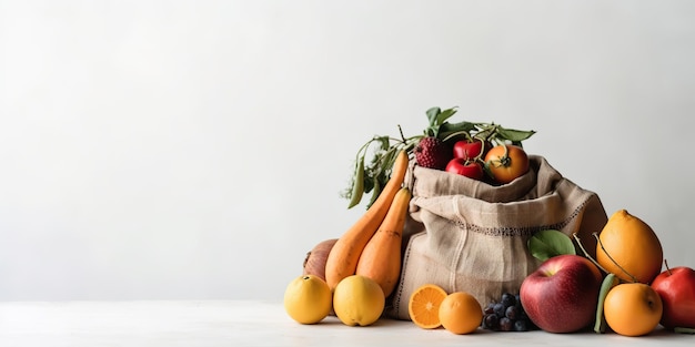
<instances>
[{"instance_id":1,"label":"beige burlap sack filled with fruit and leafy greens","mask_svg":"<svg viewBox=\"0 0 695 347\"><path fill-rule=\"evenodd\" d=\"M403 231L402 272L386 307L395 318L410 319L409 297L425 284L470 293L483 307L504 293L518 293L541 263L527 247L534 234L576 233L595 249L591 234L607 221L595 193L563 177L543 156L525 153L522 142L534 131L450 123L455 113L432 108L423 134L374 136L357 152L344 194L353 207L372 193L369 208L387 182L395 154L409 153L405 183L413 195ZM454 169L442 164L446 161ZM465 174L475 165L483 176L477 171Z\"/></svg>"}]
</instances>

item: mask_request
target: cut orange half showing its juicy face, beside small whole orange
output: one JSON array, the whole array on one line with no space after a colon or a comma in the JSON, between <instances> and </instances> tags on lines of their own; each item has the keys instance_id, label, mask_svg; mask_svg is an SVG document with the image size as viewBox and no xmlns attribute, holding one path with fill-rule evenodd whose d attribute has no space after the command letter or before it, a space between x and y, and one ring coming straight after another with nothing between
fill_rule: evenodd
<instances>
[{"instance_id":1,"label":"cut orange half showing its juicy face, beside small whole orange","mask_svg":"<svg viewBox=\"0 0 695 347\"><path fill-rule=\"evenodd\" d=\"M446 298L446 292L435 284L420 286L407 302L407 313L411 320L423 329L435 329L442 326L440 322L440 305Z\"/></svg>"}]
</instances>

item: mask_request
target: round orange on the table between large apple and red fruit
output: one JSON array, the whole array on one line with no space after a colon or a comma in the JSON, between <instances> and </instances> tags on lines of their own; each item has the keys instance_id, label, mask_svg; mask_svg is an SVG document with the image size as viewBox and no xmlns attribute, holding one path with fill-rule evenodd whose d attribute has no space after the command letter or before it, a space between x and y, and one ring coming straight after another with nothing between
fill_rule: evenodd
<instances>
[{"instance_id":1,"label":"round orange on the table between large apple and red fruit","mask_svg":"<svg viewBox=\"0 0 695 347\"><path fill-rule=\"evenodd\" d=\"M618 284L603 302L608 327L625 336L649 334L658 325L663 309L658 293L644 283Z\"/></svg>"}]
</instances>

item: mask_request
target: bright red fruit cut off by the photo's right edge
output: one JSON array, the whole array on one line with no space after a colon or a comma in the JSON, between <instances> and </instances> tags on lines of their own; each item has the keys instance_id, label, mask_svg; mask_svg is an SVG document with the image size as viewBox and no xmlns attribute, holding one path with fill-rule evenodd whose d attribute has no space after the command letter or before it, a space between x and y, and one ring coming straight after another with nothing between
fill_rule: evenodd
<instances>
[{"instance_id":1,"label":"bright red fruit cut off by the photo's right edge","mask_svg":"<svg viewBox=\"0 0 695 347\"><path fill-rule=\"evenodd\" d=\"M652 282L664 304L662 325L695 328L695 271L686 266L666 269Z\"/></svg>"}]
</instances>

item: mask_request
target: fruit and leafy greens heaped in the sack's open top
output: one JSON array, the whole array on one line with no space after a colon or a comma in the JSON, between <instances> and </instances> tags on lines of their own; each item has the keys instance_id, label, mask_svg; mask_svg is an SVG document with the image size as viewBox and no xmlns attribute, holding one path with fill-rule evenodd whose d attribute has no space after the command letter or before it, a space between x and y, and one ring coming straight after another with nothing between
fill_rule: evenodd
<instances>
[{"instance_id":1,"label":"fruit and leafy greens heaped in the sack's open top","mask_svg":"<svg viewBox=\"0 0 695 347\"><path fill-rule=\"evenodd\" d=\"M374 136L363 144L356 154L350 186L343 192L343 197L350 201L348 207L357 205L367 193L372 193L367 206L379 197L401 152L413 157L419 166L493 185L510 183L528 171L523 141L535 131L495 123L449 122L455 113L456 109L432 108L426 112L429 126L423 133L405 136L401 130L400 139Z\"/></svg>"}]
</instances>

